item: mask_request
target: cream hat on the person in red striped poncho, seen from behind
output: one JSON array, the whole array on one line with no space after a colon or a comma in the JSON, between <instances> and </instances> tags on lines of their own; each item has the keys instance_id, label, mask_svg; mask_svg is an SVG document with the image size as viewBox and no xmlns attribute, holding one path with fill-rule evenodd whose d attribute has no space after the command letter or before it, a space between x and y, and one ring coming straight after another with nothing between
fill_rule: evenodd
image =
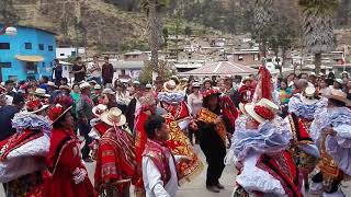
<instances>
[{"instance_id":1,"label":"cream hat on the person in red striped poncho, seen from behind","mask_svg":"<svg viewBox=\"0 0 351 197\"><path fill-rule=\"evenodd\" d=\"M109 112L101 114L100 119L110 126L123 126L126 124L126 118L122 111L117 107L111 108Z\"/></svg>"}]
</instances>

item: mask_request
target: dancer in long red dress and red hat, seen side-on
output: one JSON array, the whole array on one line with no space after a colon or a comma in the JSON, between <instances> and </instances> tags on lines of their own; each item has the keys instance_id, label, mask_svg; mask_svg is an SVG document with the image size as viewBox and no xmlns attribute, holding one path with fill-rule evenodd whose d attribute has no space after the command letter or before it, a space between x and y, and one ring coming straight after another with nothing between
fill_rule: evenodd
<instances>
[{"instance_id":1,"label":"dancer in long red dress and red hat, seen side-on","mask_svg":"<svg viewBox=\"0 0 351 197\"><path fill-rule=\"evenodd\" d=\"M94 196L81 159L79 140L73 132L75 121L70 109L60 104L52 105L48 109L53 131L43 196Z\"/></svg>"}]
</instances>

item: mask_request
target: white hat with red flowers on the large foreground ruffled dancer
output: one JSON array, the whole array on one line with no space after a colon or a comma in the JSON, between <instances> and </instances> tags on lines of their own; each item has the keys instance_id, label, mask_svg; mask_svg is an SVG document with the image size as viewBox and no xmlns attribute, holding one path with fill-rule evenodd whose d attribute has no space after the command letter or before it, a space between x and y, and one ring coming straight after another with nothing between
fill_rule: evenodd
<instances>
[{"instance_id":1,"label":"white hat with red flowers on the large foreground ruffled dancer","mask_svg":"<svg viewBox=\"0 0 351 197\"><path fill-rule=\"evenodd\" d=\"M279 106L267 99L262 99L256 105L246 104L244 108L250 117L260 124L274 119L275 113L279 111Z\"/></svg>"}]
</instances>

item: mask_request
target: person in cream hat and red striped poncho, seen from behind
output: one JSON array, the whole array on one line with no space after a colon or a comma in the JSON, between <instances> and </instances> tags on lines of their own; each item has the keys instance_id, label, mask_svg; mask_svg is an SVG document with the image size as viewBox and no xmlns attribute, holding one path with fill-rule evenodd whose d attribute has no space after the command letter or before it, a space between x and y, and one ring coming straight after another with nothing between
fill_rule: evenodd
<instances>
[{"instance_id":1,"label":"person in cream hat and red striped poncho, seen from behind","mask_svg":"<svg viewBox=\"0 0 351 197\"><path fill-rule=\"evenodd\" d=\"M126 118L120 108L111 108L100 118L110 129L102 136L98 149L95 190L111 197L128 197L136 167L133 136L122 128Z\"/></svg>"}]
</instances>

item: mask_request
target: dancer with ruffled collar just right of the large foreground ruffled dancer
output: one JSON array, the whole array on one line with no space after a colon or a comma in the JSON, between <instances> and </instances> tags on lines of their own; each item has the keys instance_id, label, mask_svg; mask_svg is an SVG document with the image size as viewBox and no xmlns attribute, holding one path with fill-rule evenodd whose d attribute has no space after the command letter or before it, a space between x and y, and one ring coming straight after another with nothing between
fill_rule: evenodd
<instances>
[{"instance_id":1,"label":"dancer with ruffled collar just right of the large foreground ruffled dancer","mask_svg":"<svg viewBox=\"0 0 351 197\"><path fill-rule=\"evenodd\" d=\"M325 99L316 96L316 89L307 86L301 94L295 94L288 102L290 115L285 121L290 125L293 140L290 151L295 164L304 176L305 188L308 188L308 174L315 169L319 151L310 138L310 124L315 112L327 104Z\"/></svg>"}]
</instances>

